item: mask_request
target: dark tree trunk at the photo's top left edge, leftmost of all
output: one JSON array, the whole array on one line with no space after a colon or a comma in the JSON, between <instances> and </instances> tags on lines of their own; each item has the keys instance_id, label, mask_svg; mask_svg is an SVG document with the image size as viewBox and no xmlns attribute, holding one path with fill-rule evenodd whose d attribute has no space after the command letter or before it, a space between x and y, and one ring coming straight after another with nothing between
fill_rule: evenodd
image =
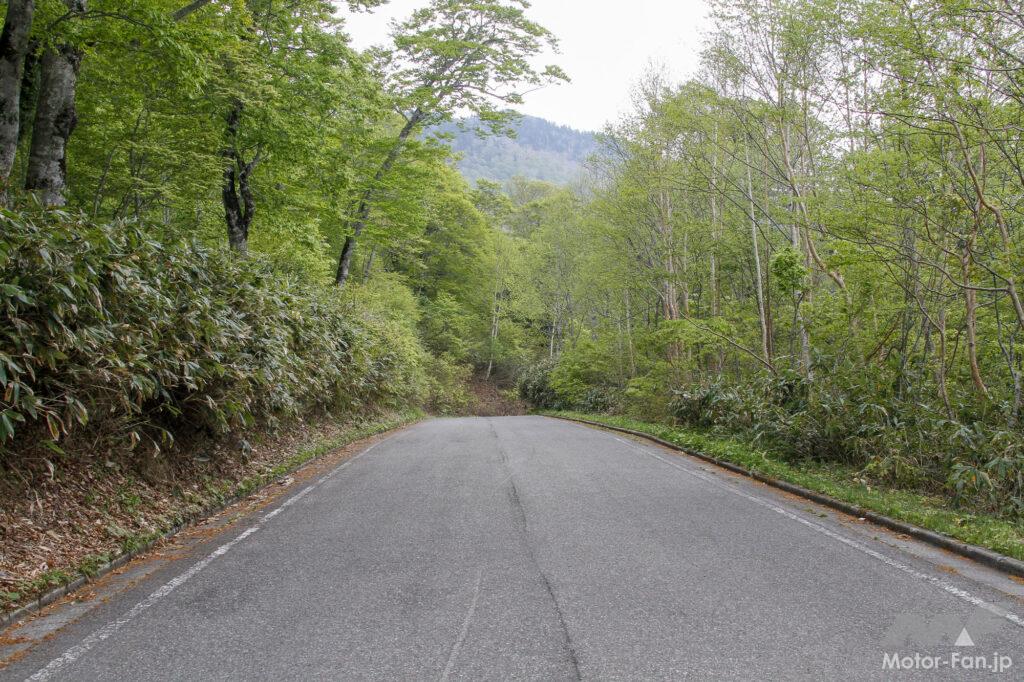
<instances>
[{"instance_id":1,"label":"dark tree trunk at the photo's top left edge, leftmost of all","mask_svg":"<svg viewBox=\"0 0 1024 682\"><path fill-rule=\"evenodd\" d=\"M0 198L6 201L20 130L22 73L29 49L34 0L8 0L0 34Z\"/></svg>"}]
</instances>

